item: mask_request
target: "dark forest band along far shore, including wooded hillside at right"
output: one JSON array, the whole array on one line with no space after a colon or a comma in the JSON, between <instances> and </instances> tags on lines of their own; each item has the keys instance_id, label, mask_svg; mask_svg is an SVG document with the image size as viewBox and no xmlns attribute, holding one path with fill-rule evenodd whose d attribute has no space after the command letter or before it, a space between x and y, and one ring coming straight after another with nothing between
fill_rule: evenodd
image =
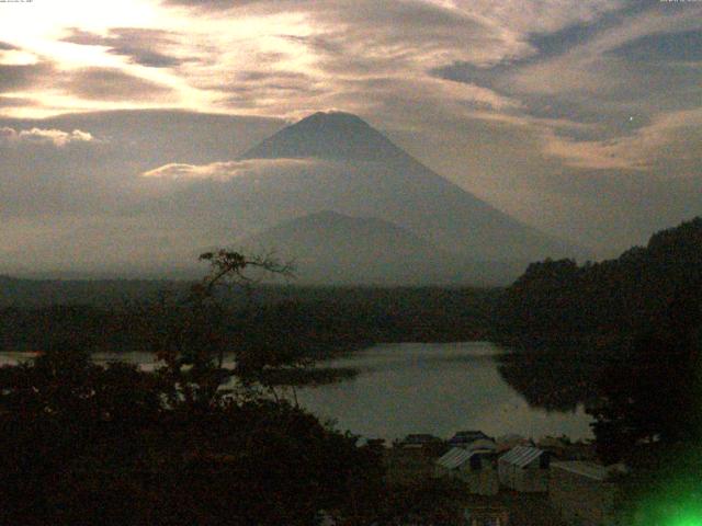
<instances>
[{"instance_id":1,"label":"dark forest band along far shore, including wooded hillside at right","mask_svg":"<svg viewBox=\"0 0 702 526\"><path fill-rule=\"evenodd\" d=\"M506 289L256 285L220 300L240 343L282 332L324 356L380 342L492 340L553 365L564 356L618 359L614 350L673 305L694 302L700 283L702 218L695 218L615 260L532 263ZM0 276L0 350L43 351L77 334L94 351L138 350L134 316L191 285Z\"/></svg>"}]
</instances>

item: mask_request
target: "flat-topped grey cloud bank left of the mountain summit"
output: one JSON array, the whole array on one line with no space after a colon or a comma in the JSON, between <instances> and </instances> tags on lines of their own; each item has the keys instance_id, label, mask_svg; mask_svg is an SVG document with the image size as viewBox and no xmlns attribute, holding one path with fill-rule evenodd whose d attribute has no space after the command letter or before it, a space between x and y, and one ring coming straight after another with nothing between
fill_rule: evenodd
<instances>
[{"instance_id":1,"label":"flat-topped grey cloud bank left of the mountain summit","mask_svg":"<svg viewBox=\"0 0 702 526\"><path fill-rule=\"evenodd\" d=\"M236 159L281 125L182 111L0 118L0 216L70 216L77 224L95 214L128 215L181 187L178 181L141 178L143 172L173 159L192 165Z\"/></svg>"}]
</instances>

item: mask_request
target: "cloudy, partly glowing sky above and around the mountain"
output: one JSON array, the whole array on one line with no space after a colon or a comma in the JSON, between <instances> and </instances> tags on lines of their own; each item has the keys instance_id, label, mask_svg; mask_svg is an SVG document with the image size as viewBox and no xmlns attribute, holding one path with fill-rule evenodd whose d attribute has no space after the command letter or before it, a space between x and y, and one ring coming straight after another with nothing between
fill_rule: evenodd
<instances>
[{"instance_id":1,"label":"cloudy, partly glowing sky above and around the mountain","mask_svg":"<svg viewBox=\"0 0 702 526\"><path fill-rule=\"evenodd\" d=\"M329 110L613 256L702 213L702 2L0 2L0 262Z\"/></svg>"}]
</instances>

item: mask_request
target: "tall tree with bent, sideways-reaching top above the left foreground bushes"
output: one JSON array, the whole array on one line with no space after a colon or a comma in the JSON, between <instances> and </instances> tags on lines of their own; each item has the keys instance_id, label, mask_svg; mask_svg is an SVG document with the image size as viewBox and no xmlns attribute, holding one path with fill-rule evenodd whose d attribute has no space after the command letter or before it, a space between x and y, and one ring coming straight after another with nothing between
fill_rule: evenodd
<instances>
[{"instance_id":1,"label":"tall tree with bent, sideways-reaching top above the left foreground bushes","mask_svg":"<svg viewBox=\"0 0 702 526\"><path fill-rule=\"evenodd\" d=\"M309 365L304 348L279 334L270 334L273 345L246 345L242 321L256 316L258 308L251 302L235 308L227 295L233 288L250 293L257 283L252 273L291 277L293 266L270 254L249 258L225 249L204 253L200 260L210 263L210 272L185 296L163 294L158 302L127 317L127 323L141 325L145 347L163 362L159 374L173 386L170 402L213 403L233 377L241 387L262 386L275 395L265 381L268 369ZM225 366L227 355L234 367Z\"/></svg>"}]
</instances>

